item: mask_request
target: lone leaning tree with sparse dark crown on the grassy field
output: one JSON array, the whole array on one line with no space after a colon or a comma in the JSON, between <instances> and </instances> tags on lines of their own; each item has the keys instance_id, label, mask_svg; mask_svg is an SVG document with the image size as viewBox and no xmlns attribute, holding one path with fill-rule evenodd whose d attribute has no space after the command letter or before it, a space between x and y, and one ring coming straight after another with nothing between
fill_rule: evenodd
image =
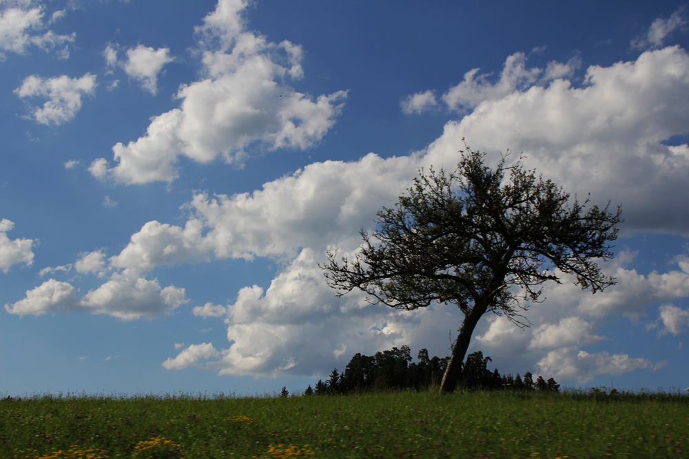
<instances>
[{"instance_id":1,"label":"lone leaning tree with sparse dark crown on the grassy field","mask_svg":"<svg viewBox=\"0 0 689 459\"><path fill-rule=\"evenodd\" d=\"M322 266L338 296L359 289L373 303L414 310L453 303L464 313L440 389L455 388L471 334L486 312L525 323L522 311L539 301L542 284L561 283L553 268L575 275L595 293L615 284L596 261L610 259L621 209L588 206L525 170L521 158L495 170L485 153L467 148L453 173L420 171L392 209L378 212L377 229L363 229L353 256L327 252ZM505 181L506 173L509 180Z\"/></svg>"}]
</instances>

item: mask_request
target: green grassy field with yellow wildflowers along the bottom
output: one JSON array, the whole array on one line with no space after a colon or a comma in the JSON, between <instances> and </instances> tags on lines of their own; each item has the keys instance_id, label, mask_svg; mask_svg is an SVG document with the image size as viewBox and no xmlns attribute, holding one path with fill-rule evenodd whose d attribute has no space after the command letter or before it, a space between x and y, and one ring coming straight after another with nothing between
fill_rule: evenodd
<instances>
[{"instance_id":1,"label":"green grassy field with yellow wildflowers along the bottom","mask_svg":"<svg viewBox=\"0 0 689 459\"><path fill-rule=\"evenodd\" d=\"M664 392L0 401L1 458L689 458L688 437Z\"/></svg>"}]
</instances>

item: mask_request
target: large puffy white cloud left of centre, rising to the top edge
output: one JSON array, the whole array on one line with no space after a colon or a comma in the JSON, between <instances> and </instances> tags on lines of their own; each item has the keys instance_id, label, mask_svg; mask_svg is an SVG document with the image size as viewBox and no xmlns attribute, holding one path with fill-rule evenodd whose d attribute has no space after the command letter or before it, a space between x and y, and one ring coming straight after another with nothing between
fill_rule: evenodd
<instances>
[{"instance_id":1,"label":"large puffy white cloud left of centre, rising to the top edge","mask_svg":"<svg viewBox=\"0 0 689 459\"><path fill-rule=\"evenodd\" d=\"M221 0L196 28L205 78L183 85L179 108L152 119L145 136L113 147L114 167L92 164L99 178L125 184L172 182L186 156L207 163L245 158L248 149L307 149L342 110L347 92L311 98L289 86L302 78L301 47L246 32L244 1ZM112 60L112 52L106 55ZM94 166L98 167L94 167Z\"/></svg>"}]
</instances>

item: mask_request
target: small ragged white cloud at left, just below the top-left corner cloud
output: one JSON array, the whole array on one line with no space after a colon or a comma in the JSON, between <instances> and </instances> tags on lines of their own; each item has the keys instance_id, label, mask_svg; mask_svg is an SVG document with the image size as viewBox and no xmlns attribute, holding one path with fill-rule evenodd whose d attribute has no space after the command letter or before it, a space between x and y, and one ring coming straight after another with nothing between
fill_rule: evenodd
<instances>
[{"instance_id":1,"label":"small ragged white cloud at left, just below the top-left corner cloud","mask_svg":"<svg viewBox=\"0 0 689 459\"><path fill-rule=\"evenodd\" d=\"M48 98L43 107L35 107L31 118L43 125L61 125L76 116L81 109L81 96L92 96L96 89L96 76L85 74L81 78L66 75L41 78L32 75L24 78L14 93L21 98Z\"/></svg>"}]
</instances>

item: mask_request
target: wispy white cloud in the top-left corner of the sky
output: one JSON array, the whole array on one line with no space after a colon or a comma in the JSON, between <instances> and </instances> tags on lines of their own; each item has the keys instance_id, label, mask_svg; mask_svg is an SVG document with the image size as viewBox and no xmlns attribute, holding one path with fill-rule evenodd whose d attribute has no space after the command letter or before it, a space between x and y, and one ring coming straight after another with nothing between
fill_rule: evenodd
<instances>
[{"instance_id":1,"label":"wispy white cloud in the top-left corner of the sky","mask_svg":"<svg viewBox=\"0 0 689 459\"><path fill-rule=\"evenodd\" d=\"M52 15L49 22L59 19L60 12ZM0 61L6 59L6 53L26 54L32 47L44 51L53 50L64 43L71 43L75 34L59 35L52 30L45 30L43 7L30 8L30 3L0 4ZM69 56L67 48L61 52Z\"/></svg>"}]
</instances>

